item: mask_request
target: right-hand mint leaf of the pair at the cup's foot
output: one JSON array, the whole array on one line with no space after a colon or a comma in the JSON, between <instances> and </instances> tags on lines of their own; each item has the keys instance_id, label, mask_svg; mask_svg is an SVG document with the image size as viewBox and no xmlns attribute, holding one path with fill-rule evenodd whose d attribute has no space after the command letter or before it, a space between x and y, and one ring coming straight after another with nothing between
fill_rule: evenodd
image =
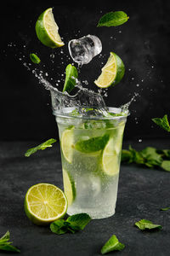
<instances>
[{"instance_id":1,"label":"right-hand mint leaf of the pair at the cup's foot","mask_svg":"<svg viewBox=\"0 0 170 256\"><path fill-rule=\"evenodd\" d=\"M87 213L74 214L66 219L72 226L78 227L80 230L83 230L90 220L91 218Z\"/></svg>"}]
</instances>

